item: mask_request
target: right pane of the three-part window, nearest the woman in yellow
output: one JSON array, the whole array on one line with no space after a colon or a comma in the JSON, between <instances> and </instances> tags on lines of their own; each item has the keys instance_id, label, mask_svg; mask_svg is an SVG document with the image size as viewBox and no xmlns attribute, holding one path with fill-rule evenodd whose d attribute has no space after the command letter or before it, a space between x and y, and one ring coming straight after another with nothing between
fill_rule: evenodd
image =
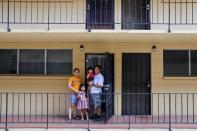
<instances>
[{"instance_id":1,"label":"right pane of the three-part window, nearest the woman in yellow","mask_svg":"<svg viewBox=\"0 0 197 131\"><path fill-rule=\"evenodd\" d=\"M47 50L47 74L71 74L72 50Z\"/></svg>"}]
</instances>

